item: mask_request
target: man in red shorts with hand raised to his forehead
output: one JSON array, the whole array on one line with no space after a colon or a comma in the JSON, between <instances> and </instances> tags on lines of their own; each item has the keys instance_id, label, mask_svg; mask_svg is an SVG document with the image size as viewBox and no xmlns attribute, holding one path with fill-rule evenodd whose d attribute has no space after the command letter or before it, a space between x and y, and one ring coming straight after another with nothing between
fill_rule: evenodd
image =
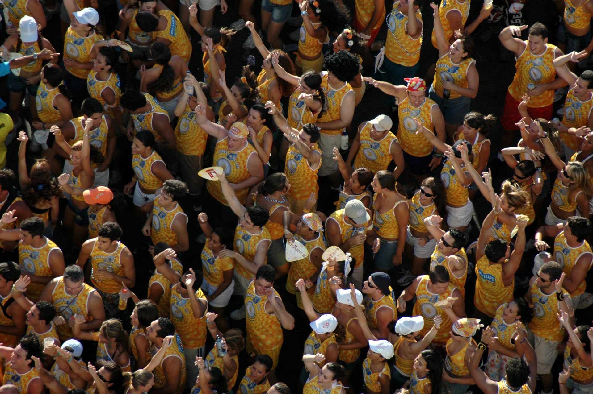
<instances>
[{"instance_id":1,"label":"man in red shorts with hand raised to his forehead","mask_svg":"<svg viewBox=\"0 0 593 394\"><path fill-rule=\"evenodd\" d=\"M548 44L548 29L541 23L529 28L528 39L522 41L521 31L527 25L505 27L499 35L502 45L515 54L515 78L506 92L505 107L500 121L505 133L502 134L502 148L511 146L517 123L521 115L517 109L524 94L529 95L527 111L532 119L552 117L554 91L566 86L566 81L556 78L553 60L562 56L560 49ZM519 38L516 38L517 36Z\"/></svg>"}]
</instances>

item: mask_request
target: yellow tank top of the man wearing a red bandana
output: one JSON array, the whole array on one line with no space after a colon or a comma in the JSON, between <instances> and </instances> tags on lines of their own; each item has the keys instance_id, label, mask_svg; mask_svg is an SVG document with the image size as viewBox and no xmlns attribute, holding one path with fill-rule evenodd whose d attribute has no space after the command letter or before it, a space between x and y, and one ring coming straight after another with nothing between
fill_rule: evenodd
<instances>
[{"instance_id":1,"label":"yellow tank top of the man wearing a red bandana","mask_svg":"<svg viewBox=\"0 0 593 394\"><path fill-rule=\"evenodd\" d=\"M404 98L397 107L400 122L397 127L397 139L400 142L401 149L412 156L424 157L432 152L432 143L426 139L424 134L416 134L417 124L414 118L420 120L428 130L434 130L432 123L432 107L436 102L430 98L425 98L422 105L416 108L410 103L409 98Z\"/></svg>"}]
</instances>

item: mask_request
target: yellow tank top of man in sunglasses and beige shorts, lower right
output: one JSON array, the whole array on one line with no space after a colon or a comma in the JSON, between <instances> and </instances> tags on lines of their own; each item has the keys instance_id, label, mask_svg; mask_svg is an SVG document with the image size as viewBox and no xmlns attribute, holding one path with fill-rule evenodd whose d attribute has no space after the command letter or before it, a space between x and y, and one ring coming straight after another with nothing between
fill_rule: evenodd
<instances>
[{"instance_id":1,"label":"yellow tank top of man in sunglasses and beige shorts, lower right","mask_svg":"<svg viewBox=\"0 0 593 394\"><path fill-rule=\"evenodd\" d=\"M565 297L569 297L566 290L562 290ZM557 318L559 302L556 298L556 290L551 294L544 294L537 287L537 283L534 282L531 286L533 320L529 323L529 328L538 337L550 341L562 341L564 339L565 329Z\"/></svg>"}]
</instances>

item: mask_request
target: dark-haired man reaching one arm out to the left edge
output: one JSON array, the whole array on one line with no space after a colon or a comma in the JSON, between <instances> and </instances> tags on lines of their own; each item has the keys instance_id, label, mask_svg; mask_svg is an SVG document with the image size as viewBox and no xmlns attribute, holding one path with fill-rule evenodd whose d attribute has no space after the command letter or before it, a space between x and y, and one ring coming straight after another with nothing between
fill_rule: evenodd
<instances>
[{"instance_id":1,"label":"dark-haired man reaching one arm out to the left edge","mask_svg":"<svg viewBox=\"0 0 593 394\"><path fill-rule=\"evenodd\" d=\"M53 278L62 276L65 263L58 245L43 235L45 223L40 217L23 220L20 229L5 230L3 227L16 220L12 212L7 212L0 221L0 239L18 242L18 262L21 269L31 279L27 296L37 301L45 285Z\"/></svg>"}]
</instances>

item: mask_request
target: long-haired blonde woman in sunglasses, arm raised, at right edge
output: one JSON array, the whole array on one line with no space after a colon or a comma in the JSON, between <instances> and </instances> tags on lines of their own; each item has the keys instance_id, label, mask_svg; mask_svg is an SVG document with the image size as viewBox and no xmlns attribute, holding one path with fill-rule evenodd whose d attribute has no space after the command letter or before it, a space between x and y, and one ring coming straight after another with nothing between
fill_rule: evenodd
<instances>
[{"instance_id":1,"label":"long-haired blonde woman in sunglasses, arm raised, at right edge","mask_svg":"<svg viewBox=\"0 0 593 394\"><path fill-rule=\"evenodd\" d=\"M534 123L546 149L546 155L558 170L558 177L552 189L552 201L546 214L546 225L566 223L570 216L576 214L577 207L581 216L589 217L589 200L593 196L589 172L581 162L563 162L540 123Z\"/></svg>"}]
</instances>

